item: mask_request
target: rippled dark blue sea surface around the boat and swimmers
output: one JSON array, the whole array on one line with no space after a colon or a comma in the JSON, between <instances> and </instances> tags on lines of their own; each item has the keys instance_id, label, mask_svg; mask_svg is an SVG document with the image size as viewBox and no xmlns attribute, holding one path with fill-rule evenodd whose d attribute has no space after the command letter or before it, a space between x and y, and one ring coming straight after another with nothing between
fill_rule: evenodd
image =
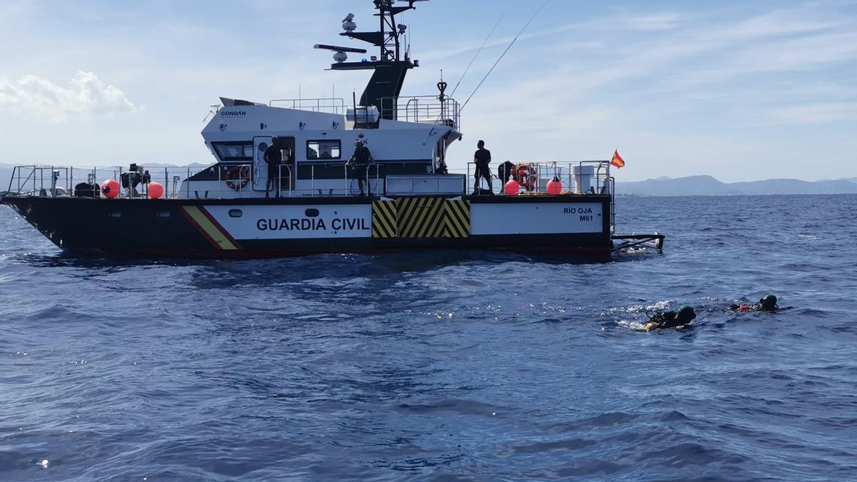
<instances>
[{"instance_id":1,"label":"rippled dark blue sea surface around the boat and swimmers","mask_svg":"<svg viewBox=\"0 0 857 482\"><path fill-rule=\"evenodd\" d=\"M857 196L617 209L663 254L84 257L0 207L0 479L857 479Z\"/></svg>"}]
</instances>

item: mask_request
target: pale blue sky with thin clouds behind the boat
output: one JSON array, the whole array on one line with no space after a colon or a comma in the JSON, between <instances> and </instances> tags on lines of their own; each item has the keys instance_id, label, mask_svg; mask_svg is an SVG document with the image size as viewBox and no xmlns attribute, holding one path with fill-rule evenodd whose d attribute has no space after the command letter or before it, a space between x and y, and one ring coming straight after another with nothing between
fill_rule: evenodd
<instances>
[{"instance_id":1,"label":"pale blue sky with thin clouds behind the boat","mask_svg":"<svg viewBox=\"0 0 857 482\"><path fill-rule=\"evenodd\" d=\"M463 103L541 4L417 3L403 95L436 93L442 69ZM370 0L0 0L0 163L213 162L219 96L359 98L369 75L312 48L365 46L339 37L348 13L376 27ZM495 162L619 149L626 181L855 178L857 0L550 0L461 129L453 169L484 139Z\"/></svg>"}]
</instances>

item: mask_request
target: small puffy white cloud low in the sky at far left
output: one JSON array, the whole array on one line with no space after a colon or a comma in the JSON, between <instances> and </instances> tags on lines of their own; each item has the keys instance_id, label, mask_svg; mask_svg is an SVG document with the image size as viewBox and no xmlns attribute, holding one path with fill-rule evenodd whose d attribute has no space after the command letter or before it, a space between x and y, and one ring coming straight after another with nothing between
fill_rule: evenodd
<instances>
[{"instance_id":1,"label":"small puffy white cloud low in the sky at far left","mask_svg":"<svg viewBox=\"0 0 857 482\"><path fill-rule=\"evenodd\" d=\"M17 81L0 76L0 106L51 121L139 110L118 87L105 85L98 75L83 71L69 81L68 87L37 75L24 75Z\"/></svg>"}]
</instances>

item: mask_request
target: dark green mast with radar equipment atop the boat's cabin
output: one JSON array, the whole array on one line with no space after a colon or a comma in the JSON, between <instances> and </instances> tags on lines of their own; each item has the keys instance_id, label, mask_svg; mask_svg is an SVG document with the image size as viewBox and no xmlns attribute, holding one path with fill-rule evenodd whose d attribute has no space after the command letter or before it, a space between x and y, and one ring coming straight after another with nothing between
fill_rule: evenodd
<instances>
[{"instance_id":1,"label":"dark green mast with radar equipment atop the boat's cabin","mask_svg":"<svg viewBox=\"0 0 857 482\"><path fill-rule=\"evenodd\" d=\"M345 30L339 35L349 39L357 39L379 48L380 55L372 56L363 62L346 62L347 51L363 51L362 49L350 49L333 45L316 45L316 48L335 51L333 59L336 63L331 65L333 70L375 70L369 80L363 95L360 97L360 105L368 107L374 105L381 113L381 118L395 120L397 112L397 100L402 86L405 84L405 75L408 70L419 67L419 61L411 62L410 52L405 51L402 55L402 40L405 36L407 26L396 23L396 15L407 10L416 9L414 3L425 0L400 0L406 1L406 6L395 6L393 0L373 0L379 17L380 27L377 32L357 32L357 24L354 15L349 14L343 20L342 28ZM363 51L365 52L365 51Z\"/></svg>"}]
</instances>

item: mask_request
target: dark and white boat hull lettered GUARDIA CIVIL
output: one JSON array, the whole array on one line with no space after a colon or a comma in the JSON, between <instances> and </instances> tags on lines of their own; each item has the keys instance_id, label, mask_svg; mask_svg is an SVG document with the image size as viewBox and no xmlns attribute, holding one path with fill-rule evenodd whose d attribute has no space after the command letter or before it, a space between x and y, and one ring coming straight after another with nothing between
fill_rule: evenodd
<instances>
[{"instance_id":1,"label":"dark and white boat hull lettered GUARDIA CIVIL","mask_svg":"<svg viewBox=\"0 0 857 482\"><path fill-rule=\"evenodd\" d=\"M609 256L609 196L90 199L7 196L63 250L249 259L403 250Z\"/></svg>"}]
</instances>

